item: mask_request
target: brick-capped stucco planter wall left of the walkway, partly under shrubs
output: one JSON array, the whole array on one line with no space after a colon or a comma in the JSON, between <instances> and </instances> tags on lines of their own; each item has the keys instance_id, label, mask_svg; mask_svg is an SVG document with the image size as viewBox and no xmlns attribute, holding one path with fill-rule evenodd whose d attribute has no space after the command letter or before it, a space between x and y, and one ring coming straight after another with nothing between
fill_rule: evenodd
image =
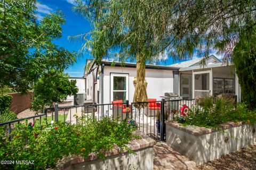
<instances>
[{"instance_id":1,"label":"brick-capped stucco planter wall left of the walkway, partly under shrubs","mask_svg":"<svg viewBox=\"0 0 256 170\"><path fill-rule=\"evenodd\" d=\"M91 154L84 159L80 156L69 156L62 159L57 169L152 169L153 170L153 146L156 141L147 135L141 134L141 139L132 141L128 146L135 154L128 152L121 153L118 148L108 152L105 159L100 159L97 155Z\"/></svg>"}]
</instances>

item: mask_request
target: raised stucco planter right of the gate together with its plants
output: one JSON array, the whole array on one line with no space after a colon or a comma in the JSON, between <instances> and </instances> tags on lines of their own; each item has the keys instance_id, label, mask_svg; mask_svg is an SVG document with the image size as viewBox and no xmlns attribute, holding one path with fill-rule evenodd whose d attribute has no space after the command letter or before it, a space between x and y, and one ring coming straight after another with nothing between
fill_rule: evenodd
<instances>
[{"instance_id":1,"label":"raised stucco planter right of the gate together with its plants","mask_svg":"<svg viewBox=\"0 0 256 170\"><path fill-rule=\"evenodd\" d=\"M233 98L204 97L166 123L166 143L197 164L256 142L256 111ZM226 123L228 122L228 123Z\"/></svg>"}]
</instances>

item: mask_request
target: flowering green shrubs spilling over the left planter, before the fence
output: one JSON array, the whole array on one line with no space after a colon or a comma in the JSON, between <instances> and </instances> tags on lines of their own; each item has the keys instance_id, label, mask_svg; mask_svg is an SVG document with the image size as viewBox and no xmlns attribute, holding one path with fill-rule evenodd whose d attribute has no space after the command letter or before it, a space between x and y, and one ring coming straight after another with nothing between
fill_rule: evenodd
<instances>
[{"instance_id":1,"label":"flowering green shrubs spilling over the left planter, before the fence","mask_svg":"<svg viewBox=\"0 0 256 170\"><path fill-rule=\"evenodd\" d=\"M133 133L136 129L134 121L118 123L103 118L98 122L91 117L78 118L78 125L53 123L50 127L44 126L43 130L39 129L37 122L35 126L15 124L11 141L8 136L0 138L0 159L34 160L34 165L14 164L7 168L45 169L55 168L57 161L68 155L86 158L94 153L104 158L115 146L121 151L129 151L126 144L137 138Z\"/></svg>"}]
</instances>

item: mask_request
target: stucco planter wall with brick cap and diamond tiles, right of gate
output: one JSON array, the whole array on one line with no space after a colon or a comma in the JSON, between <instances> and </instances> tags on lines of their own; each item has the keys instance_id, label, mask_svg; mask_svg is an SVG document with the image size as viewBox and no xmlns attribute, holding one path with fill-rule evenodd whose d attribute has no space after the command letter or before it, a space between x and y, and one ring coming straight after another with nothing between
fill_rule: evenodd
<instances>
[{"instance_id":1,"label":"stucco planter wall with brick cap and diamond tiles, right of gate","mask_svg":"<svg viewBox=\"0 0 256 170\"><path fill-rule=\"evenodd\" d=\"M256 124L223 123L221 130L166 123L166 143L201 165L256 142Z\"/></svg>"}]
</instances>

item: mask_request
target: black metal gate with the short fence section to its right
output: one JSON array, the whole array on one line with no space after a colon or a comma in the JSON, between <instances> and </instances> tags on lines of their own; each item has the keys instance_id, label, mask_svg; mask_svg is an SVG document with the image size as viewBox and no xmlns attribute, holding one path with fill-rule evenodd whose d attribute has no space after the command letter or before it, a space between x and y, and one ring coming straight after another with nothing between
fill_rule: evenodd
<instances>
[{"instance_id":1,"label":"black metal gate with the short fence section to its right","mask_svg":"<svg viewBox=\"0 0 256 170\"><path fill-rule=\"evenodd\" d=\"M138 124L138 129L156 141L164 141L165 121L173 121L174 117L183 115L183 109L193 107L194 99L132 103L132 117Z\"/></svg>"}]
</instances>

